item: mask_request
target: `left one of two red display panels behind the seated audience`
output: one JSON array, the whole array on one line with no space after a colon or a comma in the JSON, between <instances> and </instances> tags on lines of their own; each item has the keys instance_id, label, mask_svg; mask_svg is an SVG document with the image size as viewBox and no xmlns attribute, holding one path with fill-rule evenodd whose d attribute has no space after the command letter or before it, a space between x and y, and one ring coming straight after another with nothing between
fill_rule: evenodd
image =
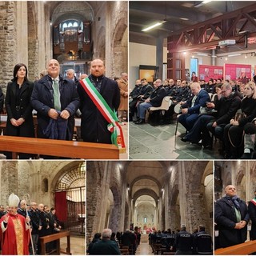
<instances>
[{"instance_id":1,"label":"left one of two red display panels behind the seated audience","mask_svg":"<svg viewBox=\"0 0 256 256\"><path fill-rule=\"evenodd\" d=\"M223 66L199 65L199 80L209 82L210 78L223 78Z\"/></svg>"}]
</instances>

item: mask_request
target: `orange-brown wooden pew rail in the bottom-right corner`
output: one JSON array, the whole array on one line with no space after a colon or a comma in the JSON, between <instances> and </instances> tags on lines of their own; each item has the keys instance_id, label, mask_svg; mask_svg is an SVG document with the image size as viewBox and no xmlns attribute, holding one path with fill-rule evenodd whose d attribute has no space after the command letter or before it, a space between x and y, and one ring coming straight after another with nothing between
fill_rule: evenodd
<instances>
[{"instance_id":1,"label":"orange-brown wooden pew rail in the bottom-right corner","mask_svg":"<svg viewBox=\"0 0 256 256\"><path fill-rule=\"evenodd\" d=\"M214 251L214 255L248 255L254 252L256 252L256 240L217 249Z\"/></svg>"}]
</instances>

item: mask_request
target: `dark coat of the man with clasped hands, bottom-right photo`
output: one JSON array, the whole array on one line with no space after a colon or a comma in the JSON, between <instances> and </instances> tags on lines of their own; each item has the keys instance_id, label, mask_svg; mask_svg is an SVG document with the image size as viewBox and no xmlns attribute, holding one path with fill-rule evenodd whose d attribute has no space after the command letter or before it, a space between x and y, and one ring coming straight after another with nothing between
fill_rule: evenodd
<instances>
[{"instance_id":1,"label":"dark coat of the man with clasped hands, bottom-right photo","mask_svg":"<svg viewBox=\"0 0 256 256\"><path fill-rule=\"evenodd\" d=\"M246 202L238 199L240 205L241 220L249 222L249 213ZM215 222L219 228L220 246L234 246L246 241L247 226L242 230L234 229L237 223L237 218L234 210L234 204L231 199L224 197L219 199L215 204Z\"/></svg>"}]
</instances>

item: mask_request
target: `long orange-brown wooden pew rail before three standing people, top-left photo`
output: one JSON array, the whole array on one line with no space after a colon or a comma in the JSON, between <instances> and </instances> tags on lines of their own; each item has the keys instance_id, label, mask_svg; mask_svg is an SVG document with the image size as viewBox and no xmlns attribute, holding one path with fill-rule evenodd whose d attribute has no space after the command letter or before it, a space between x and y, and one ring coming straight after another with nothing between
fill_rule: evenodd
<instances>
[{"instance_id":1,"label":"long orange-brown wooden pew rail before three standing people, top-left photo","mask_svg":"<svg viewBox=\"0 0 256 256\"><path fill-rule=\"evenodd\" d=\"M0 151L12 152L13 159L18 158L18 153L64 158L119 159L118 147L114 145L45 138L0 136Z\"/></svg>"}]
</instances>

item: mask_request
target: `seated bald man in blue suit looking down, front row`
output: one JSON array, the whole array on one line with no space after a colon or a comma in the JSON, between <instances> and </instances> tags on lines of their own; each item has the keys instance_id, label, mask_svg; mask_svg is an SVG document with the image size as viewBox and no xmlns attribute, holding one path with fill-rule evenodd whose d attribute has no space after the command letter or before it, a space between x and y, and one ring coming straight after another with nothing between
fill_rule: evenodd
<instances>
[{"instance_id":1,"label":"seated bald man in blue suit looking down, front row","mask_svg":"<svg viewBox=\"0 0 256 256\"><path fill-rule=\"evenodd\" d=\"M180 122L186 130L191 130L194 126L194 122L198 119L200 108L205 107L206 102L210 102L209 94L201 89L198 82L193 82L190 89L194 97L184 103L182 102L182 115L178 117L178 122Z\"/></svg>"}]
</instances>

